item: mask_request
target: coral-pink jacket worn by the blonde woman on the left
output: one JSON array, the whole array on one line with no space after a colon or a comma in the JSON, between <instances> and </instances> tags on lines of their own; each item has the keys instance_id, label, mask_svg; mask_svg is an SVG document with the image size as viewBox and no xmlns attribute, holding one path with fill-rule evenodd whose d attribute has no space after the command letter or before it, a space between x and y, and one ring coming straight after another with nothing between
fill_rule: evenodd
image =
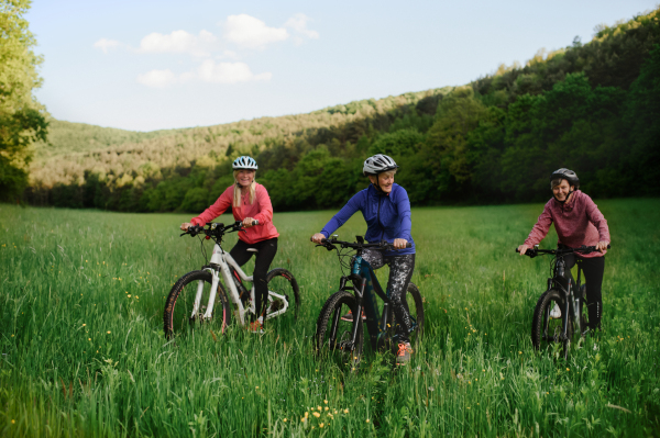
<instances>
[{"instance_id":1,"label":"coral-pink jacket worn by the blonde woman on the left","mask_svg":"<svg viewBox=\"0 0 660 438\"><path fill-rule=\"evenodd\" d=\"M213 205L209 206L199 216L193 217L193 225L206 225L227 211L233 203L233 186L218 198ZM239 238L246 244L256 244L257 242L266 240L273 237L278 237L279 234L273 225L273 204L266 188L256 183L256 196L254 204L250 204L250 193L241 195L241 206L232 207L231 212L237 221L243 221L245 217L252 217L258 221L258 225L245 228L245 232L239 233Z\"/></svg>"}]
</instances>

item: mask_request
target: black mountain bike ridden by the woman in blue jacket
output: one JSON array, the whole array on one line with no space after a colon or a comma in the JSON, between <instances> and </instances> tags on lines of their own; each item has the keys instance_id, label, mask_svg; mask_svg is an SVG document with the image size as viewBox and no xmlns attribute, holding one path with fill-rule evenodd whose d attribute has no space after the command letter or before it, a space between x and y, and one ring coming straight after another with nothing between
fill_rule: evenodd
<instances>
[{"instance_id":1,"label":"black mountain bike ridden by the woman in blue jacket","mask_svg":"<svg viewBox=\"0 0 660 438\"><path fill-rule=\"evenodd\" d=\"M331 357L341 363L356 363L362 356L364 327L370 336L373 350L392 349L397 346L397 329L389 290L383 292L374 270L362 258L366 248L382 251L393 250L394 245L387 242L366 244L362 236L356 243L337 240L336 236L323 239L321 245L328 250L337 250L342 268L349 270L339 281L339 291L330 295L317 321L315 344L321 357ZM338 246L341 248L338 248ZM408 247L411 245L408 244ZM345 273L345 272L344 272ZM378 296L383 300L383 313L378 312ZM424 306L419 289L410 282L404 299L410 321L409 338L415 345L424 334Z\"/></svg>"}]
</instances>

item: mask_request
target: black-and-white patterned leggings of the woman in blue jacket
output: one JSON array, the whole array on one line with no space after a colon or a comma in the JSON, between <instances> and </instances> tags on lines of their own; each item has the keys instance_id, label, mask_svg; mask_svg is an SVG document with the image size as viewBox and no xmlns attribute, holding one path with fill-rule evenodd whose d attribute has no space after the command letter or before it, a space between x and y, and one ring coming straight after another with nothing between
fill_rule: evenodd
<instances>
[{"instance_id":1,"label":"black-and-white patterned leggings of the woman in blue jacket","mask_svg":"<svg viewBox=\"0 0 660 438\"><path fill-rule=\"evenodd\" d=\"M397 335L400 342L410 342L408 334L410 333L410 311L406 301L408 292L408 283L413 277L415 269L415 255L407 254L404 256L383 256L382 251L375 249L365 249L362 252L362 258L366 260L371 267L376 270L385 265L389 266L389 279L387 280L387 289L389 289L389 299L392 300L392 310L396 317Z\"/></svg>"}]
</instances>

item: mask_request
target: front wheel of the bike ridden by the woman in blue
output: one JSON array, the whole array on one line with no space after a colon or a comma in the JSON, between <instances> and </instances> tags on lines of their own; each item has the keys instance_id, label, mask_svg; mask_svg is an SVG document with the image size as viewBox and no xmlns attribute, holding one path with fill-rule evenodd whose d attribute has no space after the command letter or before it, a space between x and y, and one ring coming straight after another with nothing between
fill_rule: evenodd
<instances>
[{"instance_id":1,"label":"front wheel of the bike ridden by the woman in blue","mask_svg":"<svg viewBox=\"0 0 660 438\"><path fill-rule=\"evenodd\" d=\"M358 314L355 296L345 291L332 294L323 305L317 321L315 344L319 358L354 368L362 356L364 327L361 316L354 318L355 321L342 319L342 316L346 316L349 312L351 312L351 317ZM358 324L358 334L353 344L351 340L354 324Z\"/></svg>"}]
</instances>

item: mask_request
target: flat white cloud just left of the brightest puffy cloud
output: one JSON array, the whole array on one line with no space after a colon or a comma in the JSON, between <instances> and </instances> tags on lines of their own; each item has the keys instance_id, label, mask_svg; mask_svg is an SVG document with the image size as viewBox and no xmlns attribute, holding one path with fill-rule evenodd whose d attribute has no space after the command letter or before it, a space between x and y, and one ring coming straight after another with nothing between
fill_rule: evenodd
<instances>
[{"instance_id":1,"label":"flat white cloud just left of the brightest puffy cloud","mask_svg":"<svg viewBox=\"0 0 660 438\"><path fill-rule=\"evenodd\" d=\"M140 42L141 53L188 53L194 56L209 56L218 38L208 31L199 35L186 31L174 31L168 35L154 32Z\"/></svg>"}]
</instances>

